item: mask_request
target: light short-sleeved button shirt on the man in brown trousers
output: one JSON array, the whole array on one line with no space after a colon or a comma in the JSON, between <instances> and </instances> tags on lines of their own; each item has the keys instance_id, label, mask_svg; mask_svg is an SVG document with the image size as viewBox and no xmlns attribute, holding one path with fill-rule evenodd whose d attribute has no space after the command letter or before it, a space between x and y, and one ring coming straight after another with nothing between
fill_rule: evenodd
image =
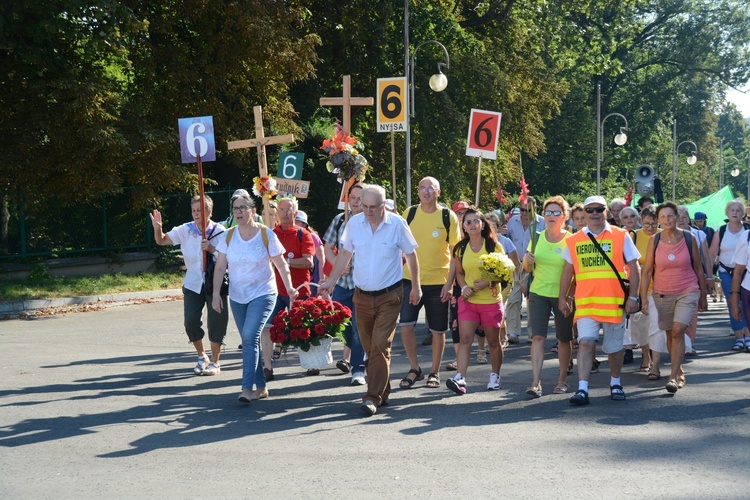
<instances>
[{"instance_id":1,"label":"light short-sleeved button shirt on the man in brown trousers","mask_svg":"<svg viewBox=\"0 0 750 500\"><path fill-rule=\"evenodd\" d=\"M364 213L349 219L340 245L357 256L354 285L369 292L387 288L403 278L402 253L412 254L417 242L406 221L388 211L375 232Z\"/></svg>"}]
</instances>

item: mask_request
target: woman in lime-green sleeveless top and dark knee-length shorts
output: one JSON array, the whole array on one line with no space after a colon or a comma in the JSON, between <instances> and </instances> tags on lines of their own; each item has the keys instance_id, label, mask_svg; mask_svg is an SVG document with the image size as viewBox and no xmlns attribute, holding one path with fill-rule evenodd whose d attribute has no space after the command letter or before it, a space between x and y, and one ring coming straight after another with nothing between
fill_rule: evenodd
<instances>
[{"instance_id":1,"label":"woman in lime-green sleeveless top and dark knee-length shorts","mask_svg":"<svg viewBox=\"0 0 750 500\"><path fill-rule=\"evenodd\" d=\"M560 361L560 374L555 394L568 392L568 366L573 352L573 315L565 316L557 308L560 294L560 278L565 260L565 240L571 236L564 228L568 220L568 203L562 196L553 196L544 202L542 214L546 229L539 233L539 240L532 252L531 243L523 256L523 269L534 272L527 308L531 337L531 386L526 394L533 398L542 395L542 365L544 363L544 340L547 338L549 314L555 316L555 336L557 337L557 357ZM572 294L569 294L572 295Z\"/></svg>"}]
</instances>

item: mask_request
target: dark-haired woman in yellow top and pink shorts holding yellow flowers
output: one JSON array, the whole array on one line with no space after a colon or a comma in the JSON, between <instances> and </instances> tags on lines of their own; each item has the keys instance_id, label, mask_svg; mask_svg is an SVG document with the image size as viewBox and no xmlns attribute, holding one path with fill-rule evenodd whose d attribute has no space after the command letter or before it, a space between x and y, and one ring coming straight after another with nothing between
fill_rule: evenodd
<instances>
[{"instance_id":1,"label":"dark-haired woman in yellow top and pink shorts holding yellow flowers","mask_svg":"<svg viewBox=\"0 0 750 500\"><path fill-rule=\"evenodd\" d=\"M492 373L488 390L500 389L500 366L503 364L503 348L500 345L500 325L503 323L503 301L496 284L483 280L479 257L487 253L502 253L497 243L495 230L480 211L469 208L463 220L464 238L453 249L456 281L461 287L458 301L458 371L446 385L457 394L466 394L464 375L469 367L471 343L480 324L484 327L490 346Z\"/></svg>"}]
</instances>

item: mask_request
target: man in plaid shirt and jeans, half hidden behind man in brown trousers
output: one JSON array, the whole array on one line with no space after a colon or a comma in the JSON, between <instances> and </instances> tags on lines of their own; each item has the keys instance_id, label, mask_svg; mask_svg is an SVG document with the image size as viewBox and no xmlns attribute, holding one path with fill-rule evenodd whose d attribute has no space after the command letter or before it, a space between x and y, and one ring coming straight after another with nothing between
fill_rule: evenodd
<instances>
[{"instance_id":1,"label":"man in plaid shirt and jeans, half hidden behind man in brown trousers","mask_svg":"<svg viewBox=\"0 0 750 500\"><path fill-rule=\"evenodd\" d=\"M349 188L349 209L350 218L362 213L362 186L359 184L354 184ZM344 212L341 212L333 218L328 230L323 235L326 262L330 262L332 267L336 265L338 252L341 251L341 236L344 234L344 229L346 229L346 218ZM346 341L344 356L336 363L336 366L344 373L351 371L351 385L365 385L365 351L362 349L362 343L359 340L357 308L354 306L353 300L354 277L351 272L353 265L354 257L344 268L331 294L333 300L352 310L352 322L344 330ZM349 353L346 352L347 350Z\"/></svg>"}]
</instances>

